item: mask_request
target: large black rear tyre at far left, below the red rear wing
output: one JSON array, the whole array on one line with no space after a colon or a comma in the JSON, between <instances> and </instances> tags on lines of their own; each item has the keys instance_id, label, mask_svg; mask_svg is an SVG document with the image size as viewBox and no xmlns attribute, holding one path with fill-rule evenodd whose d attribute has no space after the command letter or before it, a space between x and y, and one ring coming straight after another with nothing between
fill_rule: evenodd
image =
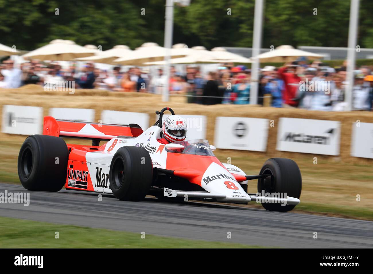
<instances>
[{"instance_id":1,"label":"large black rear tyre at far left, below the red rear wing","mask_svg":"<svg viewBox=\"0 0 373 274\"><path fill-rule=\"evenodd\" d=\"M66 182L68 147L62 138L32 135L18 155L18 176L28 190L59 191Z\"/></svg>"}]
</instances>

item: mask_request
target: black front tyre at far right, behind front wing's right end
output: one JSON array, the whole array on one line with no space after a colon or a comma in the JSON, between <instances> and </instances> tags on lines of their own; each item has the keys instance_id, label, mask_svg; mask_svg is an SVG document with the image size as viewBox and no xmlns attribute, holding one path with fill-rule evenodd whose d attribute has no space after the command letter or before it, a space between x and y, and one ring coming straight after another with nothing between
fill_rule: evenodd
<instances>
[{"instance_id":1,"label":"black front tyre at far right, behind front wing's right end","mask_svg":"<svg viewBox=\"0 0 373 274\"><path fill-rule=\"evenodd\" d=\"M280 193L298 198L301 196L302 176L297 163L286 158L268 159L260 170L260 174L270 174L272 176L258 179L258 192ZM283 197L281 196L281 197ZM286 198L286 197L284 197ZM261 205L270 211L290 211L295 205L282 205L281 203L263 202Z\"/></svg>"}]
</instances>

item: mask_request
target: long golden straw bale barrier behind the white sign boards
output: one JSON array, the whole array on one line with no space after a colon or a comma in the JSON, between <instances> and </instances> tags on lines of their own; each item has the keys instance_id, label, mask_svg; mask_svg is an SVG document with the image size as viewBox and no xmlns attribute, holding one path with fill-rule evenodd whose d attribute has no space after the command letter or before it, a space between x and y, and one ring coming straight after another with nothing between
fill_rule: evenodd
<instances>
[{"instance_id":1,"label":"long golden straw bale barrier behind the white sign boards","mask_svg":"<svg viewBox=\"0 0 373 274\"><path fill-rule=\"evenodd\" d=\"M3 105L43 107L44 116L48 115L49 108L52 107L91 108L95 110L95 120L98 121L101 119L101 111L103 110L133 111L149 114L150 124L155 122L154 112L156 110L169 106L177 114L207 116L206 138L210 144L214 144L215 119L218 116L273 120L275 126L269 127L266 152L240 151L242 156L267 155L268 157L288 157L293 159L304 157L304 153L276 151L277 125L280 117L339 121L341 122L340 155L315 155L331 161L361 164L373 163L373 159L357 158L350 155L352 123L356 123L357 120L373 123L373 113L368 111L329 112L255 105L199 105L187 104L186 97L181 96L170 96L170 102L162 102L160 95L141 92L127 93L100 89L76 89L74 94L69 94L68 91L44 91L43 87L37 85L26 85L19 89L1 89L0 98L1 113ZM1 133L0 139L4 138L9 138L9 136Z\"/></svg>"}]
</instances>

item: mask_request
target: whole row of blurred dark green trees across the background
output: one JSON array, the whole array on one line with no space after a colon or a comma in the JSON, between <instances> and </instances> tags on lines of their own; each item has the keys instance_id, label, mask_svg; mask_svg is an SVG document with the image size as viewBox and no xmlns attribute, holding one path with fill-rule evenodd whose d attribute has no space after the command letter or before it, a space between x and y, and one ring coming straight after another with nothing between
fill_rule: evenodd
<instances>
[{"instance_id":1,"label":"whole row of blurred dark green trees across the background","mask_svg":"<svg viewBox=\"0 0 373 274\"><path fill-rule=\"evenodd\" d=\"M57 38L103 50L117 44L163 45L164 11L165 0L0 0L0 43L24 50ZM175 5L173 44L251 47L253 16L254 0ZM349 17L350 0L266 0L262 47L347 47ZM360 1L358 45L373 48L372 0Z\"/></svg>"}]
</instances>

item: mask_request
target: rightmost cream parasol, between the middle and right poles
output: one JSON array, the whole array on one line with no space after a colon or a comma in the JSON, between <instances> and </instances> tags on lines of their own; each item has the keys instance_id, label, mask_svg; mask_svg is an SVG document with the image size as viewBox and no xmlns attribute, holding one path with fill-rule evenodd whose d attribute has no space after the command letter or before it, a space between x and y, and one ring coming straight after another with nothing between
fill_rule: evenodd
<instances>
[{"instance_id":1,"label":"rightmost cream parasol, between the middle and right poles","mask_svg":"<svg viewBox=\"0 0 373 274\"><path fill-rule=\"evenodd\" d=\"M291 45L281 45L273 51L268 51L259 54L257 58L260 62L292 62L298 59L298 57L305 56L310 60L320 59L323 55L311 53L308 51L298 50Z\"/></svg>"}]
</instances>

